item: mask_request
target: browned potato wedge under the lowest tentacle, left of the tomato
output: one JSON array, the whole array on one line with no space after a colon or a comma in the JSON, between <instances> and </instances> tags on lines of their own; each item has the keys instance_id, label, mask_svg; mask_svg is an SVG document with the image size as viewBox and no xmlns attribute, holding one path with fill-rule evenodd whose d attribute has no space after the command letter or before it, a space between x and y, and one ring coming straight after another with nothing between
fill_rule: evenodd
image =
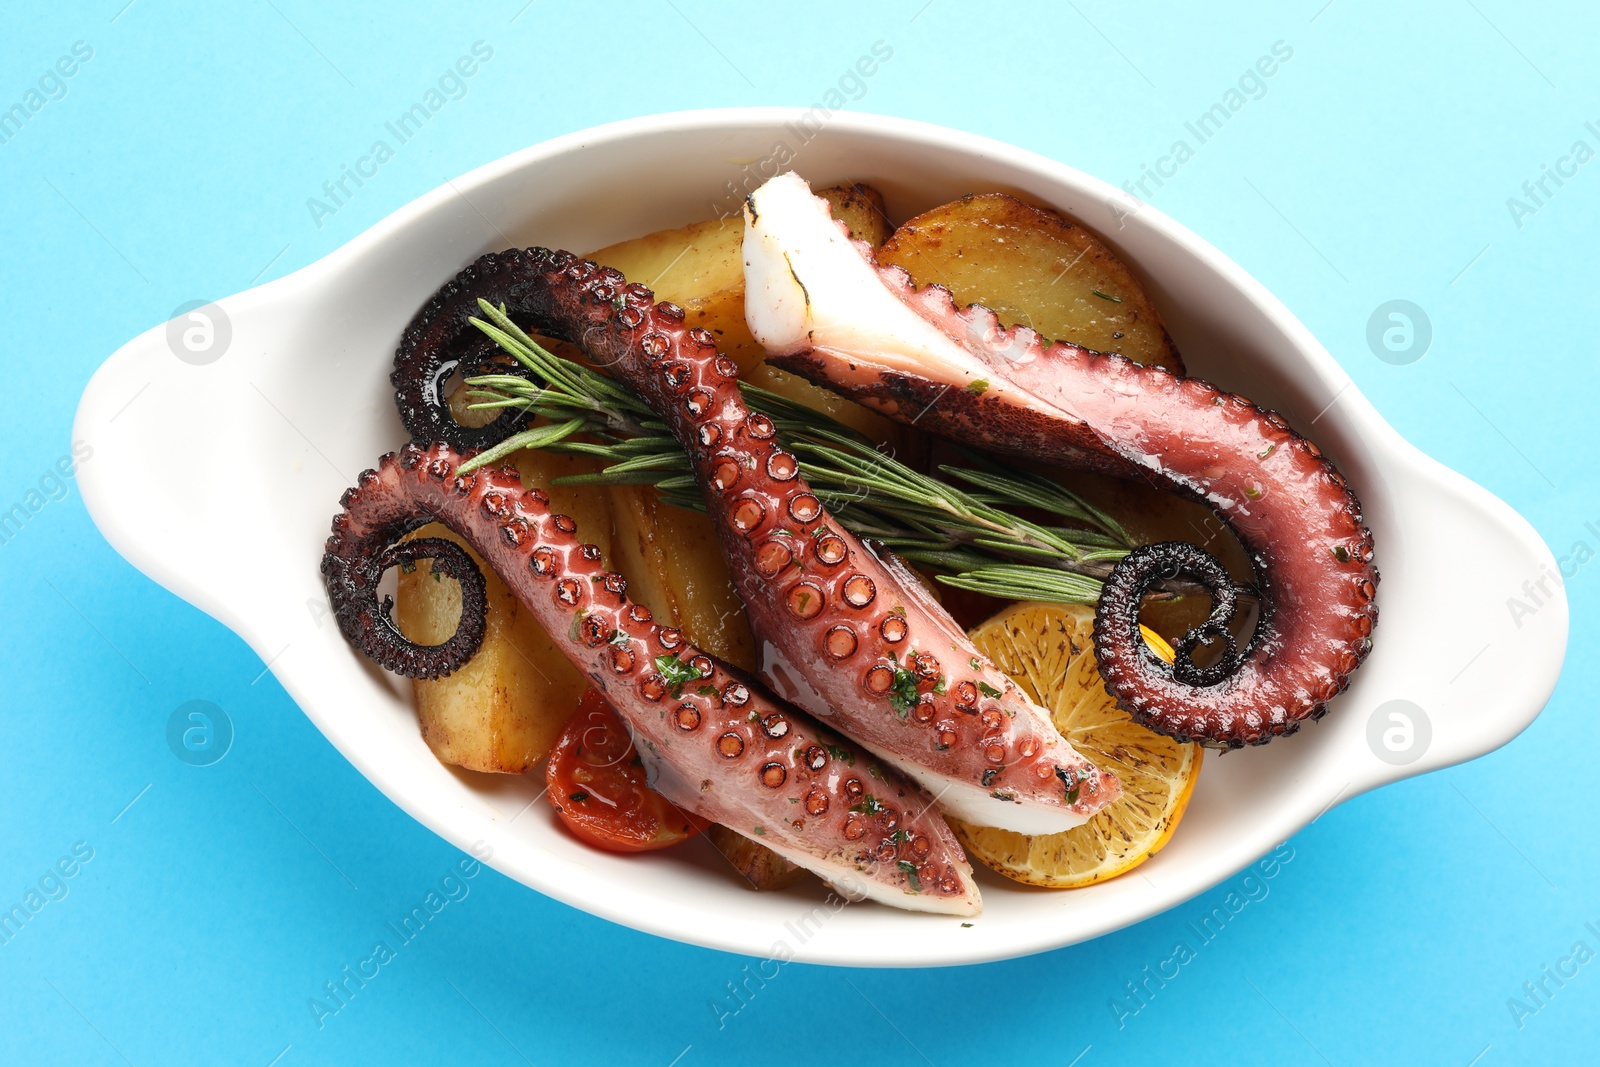
<instances>
[{"instance_id":1,"label":"browned potato wedge under the lowest tentacle, left of the tomato","mask_svg":"<svg viewBox=\"0 0 1600 1067\"><path fill-rule=\"evenodd\" d=\"M579 533L610 550L611 504L605 493L550 485L565 474L595 469L589 459L555 453L517 453L523 485L550 494L550 507L571 515ZM445 537L464 544L434 523L413 537ZM422 739L445 763L470 771L522 774L546 757L557 734L589 688L549 633L522 606L493 569L470 549L483 571L488 592L488 627L478 653L448 678L416 678L418 720ZM426 563L400 574L395 622L413 641L437 645L456 632L461 587L435 577Z\"/></svg>"}]
</instances>

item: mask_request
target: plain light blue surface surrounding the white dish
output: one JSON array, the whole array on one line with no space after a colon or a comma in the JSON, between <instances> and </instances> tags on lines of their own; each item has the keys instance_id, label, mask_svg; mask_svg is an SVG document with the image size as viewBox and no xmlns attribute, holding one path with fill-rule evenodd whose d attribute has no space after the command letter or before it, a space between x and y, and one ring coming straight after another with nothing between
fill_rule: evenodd
<instances>
[{"instance_id":1,"label":"plain light blue surface surrounding the white dish","mask_svg":"<svg viewBox=\"0 0 1600 1067\"><path fill-rule=\"evenodd\" d=\"M1558 553L1595 544L1600 163L1520 227L1506 205L1576 139L1600 147L1584 130L1600 120L1594 5L123 3L3 19L0 107L74 42L94 54L0 144L0 509L67 453L78 394L123 341L526 144L661 110L810 106L883 40L894 56L850 107L987 133L1120 184L1282 40L1293 59L1266 96L1152 202L1283 298L1426 451ZM469 94L317 227L307 197L475 40L494 58ZM1365 339L1394 298L1434 325L1410 366ZM170 474L184 477L182 456ZM790 965L718 1029L710 1001L746 960L485 870L318 1029L307 998L459 854L347 766L232 633L122 561L75 491L0 545L0 907L75 841L94 853L66 899L0 945L8 1062L1464 1067L1586 1061L1600 1040L1600 963L1522 1027L1507 1009L1573 942L1600 949L1584 929L1600 926L1594 568L1570 581L1574 651L1522 737L1326 814L1291 841L1270 896L1123 1029L1109 1000L1227 886L1011 963ZM1442 619L1438 640L1466 645L1472 624ZM214 766L166 745L190 699L237 729Z\"/></svg>"}]
</instances>

